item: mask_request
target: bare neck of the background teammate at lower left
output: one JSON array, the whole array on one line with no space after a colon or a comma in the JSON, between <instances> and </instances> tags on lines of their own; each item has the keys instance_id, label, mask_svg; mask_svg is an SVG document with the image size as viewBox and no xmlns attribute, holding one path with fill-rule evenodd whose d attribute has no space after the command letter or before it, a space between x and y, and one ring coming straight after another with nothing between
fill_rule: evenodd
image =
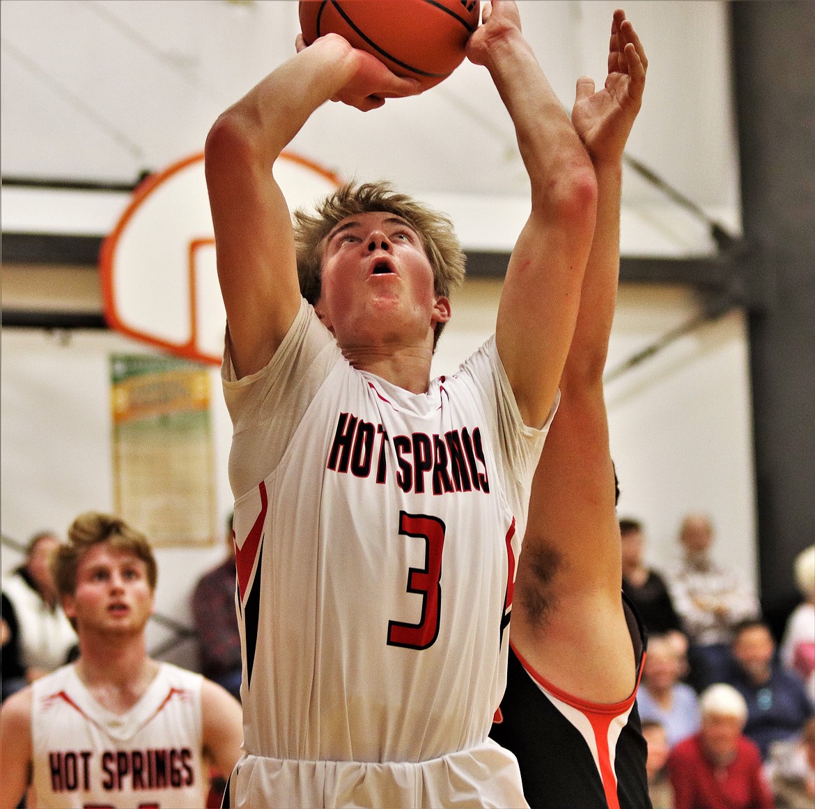
<instances>
[{"instance_id":1,"label":"bare neck of the background teammate at lower left","mask_svg":"<svg viewBox=\"0 0 815 809\"><path fill-rule=\"evenodd\" d=\"M100 705L121 714L147 691L159 665L148 657L143 635L121 643L95 643L81 638L76 671Z\"/></svg>"}]
</instances>

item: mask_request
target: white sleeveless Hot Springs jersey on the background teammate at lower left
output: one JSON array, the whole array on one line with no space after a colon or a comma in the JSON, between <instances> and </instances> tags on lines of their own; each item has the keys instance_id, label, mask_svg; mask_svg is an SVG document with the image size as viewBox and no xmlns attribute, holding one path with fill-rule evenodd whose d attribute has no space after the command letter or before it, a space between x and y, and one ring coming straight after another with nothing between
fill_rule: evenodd
<instances>
[{"instance_id":1,"label":"white sleeveless Hot Springs jersey on the background teammate at lower left","mask_svg":"<svg viewBox=\"0 0 815 809\"><path fill-rule=\"evenodd\" d=\"M37 807L202 809L201 676L162 663L127 714L90 695L73 665L33 683Z\"/></svg>"}]
</instances>

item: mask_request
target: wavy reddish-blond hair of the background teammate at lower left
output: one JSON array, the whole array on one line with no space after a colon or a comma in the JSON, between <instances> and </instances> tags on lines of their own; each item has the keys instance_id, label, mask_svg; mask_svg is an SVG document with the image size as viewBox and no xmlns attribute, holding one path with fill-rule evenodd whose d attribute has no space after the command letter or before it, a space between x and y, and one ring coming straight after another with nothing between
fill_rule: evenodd
<instances>
[{"instance_id":1,"label":"wavy reddish-blond hair of the background teammate at lower left","mask_svg":"<svg viewBox=\"0 0 815 809\"><path fill-rule=\"evenodd\" d=\"M148 568L150 589L156 589L158 566L148 538L119 517L86 511L74 519L68 528L68 542L61 544L51 559L51 572L60 596L74 595L82 557L102 542L108 542L114 550L130 551L141 559Z\"/></svg>"}]
</instances>

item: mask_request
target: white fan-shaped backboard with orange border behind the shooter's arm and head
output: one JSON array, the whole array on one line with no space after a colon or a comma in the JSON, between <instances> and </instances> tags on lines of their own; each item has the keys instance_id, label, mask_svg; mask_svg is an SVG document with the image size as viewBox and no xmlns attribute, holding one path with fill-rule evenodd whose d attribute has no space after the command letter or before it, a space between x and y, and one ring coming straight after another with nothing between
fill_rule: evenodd
<instances>
[{"instance_id":1,"label":"white fan-shaped backboard with orange border behind the shooter's arm and head","mask_svg":"<svg viewBox=\"0 0 815 809\"><path fill-rule=\"evenodd\" d=\"M280 155L274 171L289 210L313 206L339 184L331 171L290 153ZM112 329L177 356L220 364L226 313L203 153L135 189L103 242L99 262Z\"/></svg>"}]
</instances>

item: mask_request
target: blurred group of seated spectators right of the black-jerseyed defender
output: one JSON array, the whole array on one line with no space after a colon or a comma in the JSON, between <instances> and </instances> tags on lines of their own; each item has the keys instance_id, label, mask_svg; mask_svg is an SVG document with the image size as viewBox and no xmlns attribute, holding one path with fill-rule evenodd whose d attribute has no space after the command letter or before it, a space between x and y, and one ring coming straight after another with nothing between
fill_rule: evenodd
<instances>
[{"instance_id":1,"label":"blurred group of seated spectators right of the black-jerseyed defender","mask_svg":"<svg viewBox=\"0 0 815 809\"><path fill-rule=\"evenodd\" d=\"M623 591L649 631L637 695L654 809L815 807L815 546L795 559L800 603L773 635L753 587L689 514L675 564L645 562L620 519Z\"/></svg>"}]
</instances>

